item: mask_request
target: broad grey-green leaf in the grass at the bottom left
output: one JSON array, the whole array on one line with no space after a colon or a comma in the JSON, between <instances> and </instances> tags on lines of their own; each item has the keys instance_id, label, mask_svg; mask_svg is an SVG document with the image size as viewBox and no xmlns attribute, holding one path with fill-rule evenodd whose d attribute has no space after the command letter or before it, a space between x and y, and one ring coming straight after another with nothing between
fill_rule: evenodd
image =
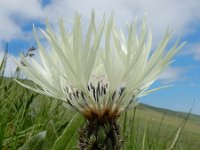
<instances>
[{"instance_id":1,"label":"broad grey-green leaf in the grass at the bottom left","mask_svg":"<svg viewBox=\"0 0 200 150\"><path fill-rule=\"evenodd\" d=\"M46 131L39 132L28 140L18 150L49 150L49 146L45 141Z\"/></svg>"}]
</instances>

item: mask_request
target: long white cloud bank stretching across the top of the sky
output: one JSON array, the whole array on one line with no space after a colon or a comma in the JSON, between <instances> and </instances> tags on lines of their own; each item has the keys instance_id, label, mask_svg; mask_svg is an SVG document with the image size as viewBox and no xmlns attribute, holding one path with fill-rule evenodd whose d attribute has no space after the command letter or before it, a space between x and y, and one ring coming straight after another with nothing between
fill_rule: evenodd
<instances>
[{"instance_id":1,"label":"long white cloud bank stretching across the top of the sky","mask_svg":"<svg viewBox=\"0 0 200 150\"><path fill-rule=\"evenodd\" d=\"M193 24L200 20L199 0L52 0L45 7L39 0L0 0L0 3L0 33L3 33L0 39L3 40L18 38L23 33L21 23L16 20L23 20L23 24L26 24L30 19L43 20L48 17L57 24L58 17L67 20L73 17L75 11L87 19L92 8L99 19L104 13L109 14L114 10L115 20L120 26L133 21L136 16L143 18L147 12L154 39L160 38L168 25L177 36L194 32Z\"/></svg>"}]
</instances>

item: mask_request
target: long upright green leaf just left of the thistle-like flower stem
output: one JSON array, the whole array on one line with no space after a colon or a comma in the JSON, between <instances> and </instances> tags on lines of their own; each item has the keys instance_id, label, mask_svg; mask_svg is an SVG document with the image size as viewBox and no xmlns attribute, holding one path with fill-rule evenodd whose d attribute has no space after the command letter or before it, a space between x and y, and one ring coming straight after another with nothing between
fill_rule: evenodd
<instances>
[{"instance_id":1,"label":"long upright green leaf just left of the thistle-like flower stem","mask_svg":"<svg viewBox=\"0 0 200 150\"><path fill-rule=\"evenodd\" d=\"M80 114L76 114L69 122L62 135L56 140L52 150L72 149L77 143L77 131L83 122L83 117Z\"/></svg>"}]
</instances>

